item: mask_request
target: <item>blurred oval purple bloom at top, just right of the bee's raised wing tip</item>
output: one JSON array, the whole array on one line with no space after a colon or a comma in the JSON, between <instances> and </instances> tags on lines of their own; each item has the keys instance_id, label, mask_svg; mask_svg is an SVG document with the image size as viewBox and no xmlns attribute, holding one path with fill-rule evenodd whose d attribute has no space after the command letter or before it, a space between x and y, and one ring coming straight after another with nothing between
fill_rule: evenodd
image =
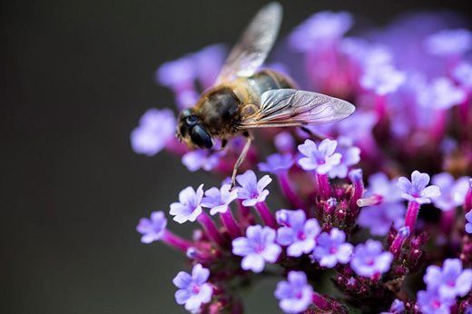
<instances>
[{"instance_id":1,"label":"blurred oval purple bloom at top, just right of the bee's raised wing tip","mask_svg":"<svg viewBox=\"0 0 472 314\"><path fill-rule=\"evenodd\" d=\"M319 12L295 28L290 34L290 44L300 51L316 49L320 44L338 40L349 31L352 23L348 12Z\"/></svg>"}]
</instances>

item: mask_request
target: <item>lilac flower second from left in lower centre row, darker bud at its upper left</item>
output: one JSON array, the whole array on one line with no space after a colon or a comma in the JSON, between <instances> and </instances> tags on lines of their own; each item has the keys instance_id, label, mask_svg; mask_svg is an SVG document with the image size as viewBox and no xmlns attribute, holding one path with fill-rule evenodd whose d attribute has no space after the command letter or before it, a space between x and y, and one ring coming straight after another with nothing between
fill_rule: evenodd
<instances>
[{"instance_id":1,"label":"lilac flower second from left in lower centre row, darker bud at its upper left","mask_svg":"<svg viewBox=\"0 0 472 314\"><path fill-rule=\"evenodd\" d=\"M277 222L283 227L277 230L277 242L288 246L289 256L299 257L303 253L310 253L315 247L316 237L321 228L314 218L307 220L302 210L280 210L275 213Z\"/></svg>"}]
</instances>

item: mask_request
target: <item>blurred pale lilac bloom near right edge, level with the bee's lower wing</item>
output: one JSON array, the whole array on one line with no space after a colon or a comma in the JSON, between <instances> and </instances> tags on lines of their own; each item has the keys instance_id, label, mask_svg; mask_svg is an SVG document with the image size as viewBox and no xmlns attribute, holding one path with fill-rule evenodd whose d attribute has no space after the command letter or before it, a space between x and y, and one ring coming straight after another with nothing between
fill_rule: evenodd
<instances>
[{"instance_id":1,"label":"blurred pale lilac bloom near right edge, level with the bee's lower wing","mask_svg":"<svg viewBox=\"0 0 472 314\"><path fill-rule=\"evenodd\" d=\"M417 89L418 104L425 108L450 109L464 102L467 94L447 77L439 77Z\"/></svg>"}]
</instances>

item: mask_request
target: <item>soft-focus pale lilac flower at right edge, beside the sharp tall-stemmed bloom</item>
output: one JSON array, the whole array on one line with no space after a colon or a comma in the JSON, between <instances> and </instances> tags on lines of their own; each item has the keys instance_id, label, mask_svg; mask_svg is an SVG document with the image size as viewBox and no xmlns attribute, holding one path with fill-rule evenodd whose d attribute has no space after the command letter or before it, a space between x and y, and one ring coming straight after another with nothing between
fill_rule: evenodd
<instances>
[{"instance_id":1,"label":"soft-focus pale lilac flower at right edge, beside the sharp tall-stemmed bloom","mask_svg":"<svg viewBox=\"0 0 472 314\"><path fill-rule=\"evenodd\" d=\"M432 180L441 190L441 195L433 199L433 203L441 211L450 211L461 206L468 191L468 178L461 177L457 181L448 172L435 174Z\"/></svg>"}]
</instances>

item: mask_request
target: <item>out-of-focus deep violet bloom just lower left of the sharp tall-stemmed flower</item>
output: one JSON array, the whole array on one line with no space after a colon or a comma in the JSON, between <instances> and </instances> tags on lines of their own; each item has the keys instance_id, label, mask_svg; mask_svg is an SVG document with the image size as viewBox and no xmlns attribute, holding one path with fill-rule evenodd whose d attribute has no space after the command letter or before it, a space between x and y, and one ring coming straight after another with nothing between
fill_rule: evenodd
<instances>
[{"instance_id":1,"label":"out-of-focus deep violet bloom just lower left of the sharp tall-stemmed flower","mask_svg":"<svg viewBox=\"0 0 472 314\"><path fill-rule=\"evenodd\" d=\"M400 202L382 202L379 205L362 208L358 223L361 227L369 228L372 235L384 236L392 224L397 230L403 226L405 211L405 205Z\"/></svg>"}]
</instances>

